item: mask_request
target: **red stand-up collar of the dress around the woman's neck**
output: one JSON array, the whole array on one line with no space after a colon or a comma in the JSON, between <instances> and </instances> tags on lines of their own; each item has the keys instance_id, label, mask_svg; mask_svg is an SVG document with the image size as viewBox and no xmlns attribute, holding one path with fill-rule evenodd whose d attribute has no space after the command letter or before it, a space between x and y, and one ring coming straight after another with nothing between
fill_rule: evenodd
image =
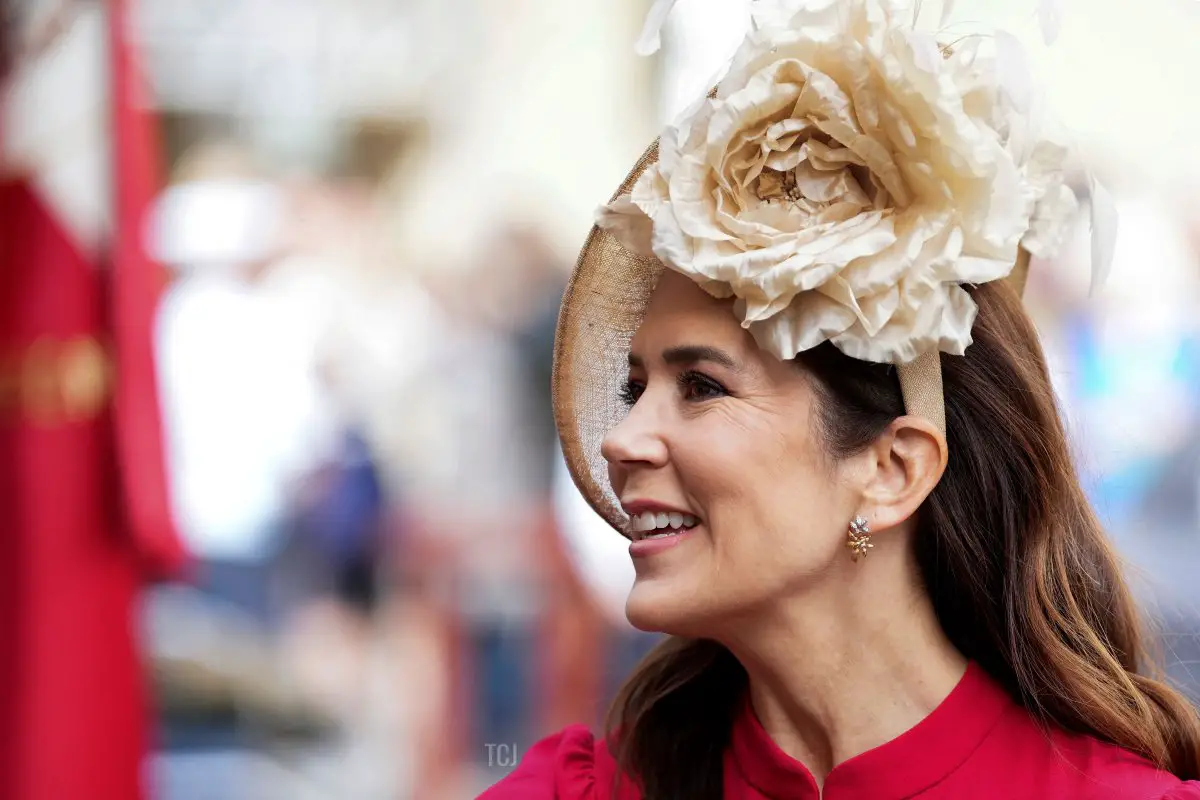
<instances>
[{"instance_id":1,"label":"red stand-up collar of the dress around the woman's neck","mask_svg":"<svg viewBox=\"0 0 1200 800\"><path fill-rule=\"evenodd\" d=\"M808 768L770 739L749 694L733 726L733 763L772 800L900 800L937 783L962 764L1012 705L1004 690L971 662L934 711L892 741L834 766L824 794Z\"/></svg>"}]
</instances>

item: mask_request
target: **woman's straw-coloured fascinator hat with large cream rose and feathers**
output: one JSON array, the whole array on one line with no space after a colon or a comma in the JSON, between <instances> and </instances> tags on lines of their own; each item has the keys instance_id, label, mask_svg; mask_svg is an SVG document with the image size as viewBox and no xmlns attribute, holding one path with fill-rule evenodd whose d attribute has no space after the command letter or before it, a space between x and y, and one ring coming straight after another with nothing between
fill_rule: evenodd
<instances>
[{"instance_id":1,"label":"woman's straw-coloured fascinator hat with large cream rose and feathers","mask_svg":"<svg viewBox=\"0 0 1200 800\"><path fill-rule=\"evenodd\" d=\"M652 7L656 48L673 0ZM942 26L949 11L943 5ZM1052 37L1055 8L1042 8ZM823 342L896 366L906 411L944 434L941 359L971 345L964 284L1024 289L1080 206L1072 149L1018 40L949 41L907 0L758 0L716 88L662 131L596 212L564 295L554 415L568 468L626 518L600 444L626 413L628 353L664 269L695 281L779 359ZM1092 181L1093 289L1111 203Z\"/></svg>"}]
</instances>

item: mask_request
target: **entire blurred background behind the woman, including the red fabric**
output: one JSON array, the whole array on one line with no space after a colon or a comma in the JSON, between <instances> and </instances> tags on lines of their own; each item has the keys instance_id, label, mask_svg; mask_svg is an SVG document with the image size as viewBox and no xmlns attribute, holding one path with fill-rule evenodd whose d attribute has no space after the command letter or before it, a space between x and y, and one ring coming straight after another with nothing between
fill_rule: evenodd
<instances>
[{"instance_id":1,"label":"entire blurred background behind the woman, including the red fabric","mask_svg":"<svg viewBox=\"0 0 1200 800\"><path fill-rule=\"evenodd\" d=\"M1033 5L954 19L1031 43L1121 215L1100 291L1081 223L1028 306L1200 698L1200 2L1066 2L1054 47ZM680 0L640 59L648 6L2 6L4 796L472 798L600 723L654 637L557 452L558 299L746 20Z\"/></svg>"}]
</instances>

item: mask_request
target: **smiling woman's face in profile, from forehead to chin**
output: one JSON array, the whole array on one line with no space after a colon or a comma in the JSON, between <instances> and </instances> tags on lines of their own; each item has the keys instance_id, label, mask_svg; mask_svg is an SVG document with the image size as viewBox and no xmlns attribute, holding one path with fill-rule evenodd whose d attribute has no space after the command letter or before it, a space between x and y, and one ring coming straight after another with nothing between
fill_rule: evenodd
<instances>
[{"instance_id":1,"label":"smiling woman's face in profile, from forehead to chin","mask_svg":"<svg viewBox=\"0 0 1200 800\"><path fill-rule=\"evenodd\" d=\"M815 401L794 365L758 350L730 301L664 271L630 349L629 415L602 446L632 518L635 626L712 636L850 561L860 486L852 462L821 450ZM689 517L695 525L673 533Z\"/></svg>"}]
</instances>

